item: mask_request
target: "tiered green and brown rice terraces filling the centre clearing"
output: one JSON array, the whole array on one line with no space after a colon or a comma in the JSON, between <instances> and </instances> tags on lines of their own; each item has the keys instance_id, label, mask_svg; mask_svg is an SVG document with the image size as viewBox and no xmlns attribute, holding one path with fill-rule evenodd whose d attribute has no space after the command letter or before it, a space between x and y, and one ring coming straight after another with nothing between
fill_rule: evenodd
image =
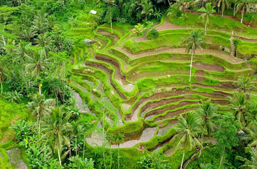
<instances>
[{"instance_id":1,"label":"tiered green and brown rice terraces filling the centre clearing","mask_svg":"<svg viewBox=\"0 0 257 169\"><path fill-rule=\"evenodd\" d=\"M168 39L151 41L145 34L134 37L131 29L114 26L112 34L109 26L99 27L95 44L81 48L85 61L74 65L71 85L81 112L97 116L99 129L104 126L107 133L125 135L120 148L141 147L169 156L174 150L170 139L176 117L206 99L222 105L219 112L226 112L226 97L236 89L233 82L253 70L247 62L231 56L229 35L210 33L204 38L207 45L194 55L192 82L188 82L190 54L177 44L190 30L167 21L154 26L160 37ZM175 37L178 34L180 38ZM219 39L228 44L218 44ZM97 130L87 138L92 146L102 141Z\"/></svg>"}]
</instances>

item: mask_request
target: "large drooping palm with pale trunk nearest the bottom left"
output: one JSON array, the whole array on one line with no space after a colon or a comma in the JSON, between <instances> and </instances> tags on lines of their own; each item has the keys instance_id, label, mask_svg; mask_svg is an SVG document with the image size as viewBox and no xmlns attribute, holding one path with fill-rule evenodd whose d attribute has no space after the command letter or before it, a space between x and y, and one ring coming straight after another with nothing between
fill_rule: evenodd
<instances>
[{"instance_id":1,"label":"large drooping palm with pale trunk nearest the bottom left","mask_svg":"<svg viewBox=\"0 0 257 169\"><path fill-rule=\"evenodd\" d=\"M69 139L65 134L72 131L72 125L69 123L70 114L63 112L61 107L56 107L51 109L51 114L44 117L42 121L42 132L44 135L41 140L47 139L54 140L53 150L57 152L60 166L62 166L61 159L66 157L70 149L65 152L62 157L61 153L63 150L63 145L69 147Z\"/></svg>"}]
</instances>

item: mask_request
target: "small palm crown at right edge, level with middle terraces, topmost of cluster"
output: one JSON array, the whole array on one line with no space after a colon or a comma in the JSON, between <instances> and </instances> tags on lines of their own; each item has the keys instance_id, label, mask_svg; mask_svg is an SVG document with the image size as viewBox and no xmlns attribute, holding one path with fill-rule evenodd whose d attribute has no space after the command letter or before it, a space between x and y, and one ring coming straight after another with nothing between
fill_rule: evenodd
<instances>
[{"instance_id":1,"label":"small palm crown at right edge, level with middle terraces, topmost of cluster","mask_svg":"<svg viewBox=\"0 0 257 169\"><path fill-rule=\"evenodd\" d=\"M254 89L254 80L252 80L249 75L244 76L240 75L238 77L238 82L235 82L234 84L238 85L238 89L244 91L246 93L248 90Z\"/></svg>"}]
</instances>

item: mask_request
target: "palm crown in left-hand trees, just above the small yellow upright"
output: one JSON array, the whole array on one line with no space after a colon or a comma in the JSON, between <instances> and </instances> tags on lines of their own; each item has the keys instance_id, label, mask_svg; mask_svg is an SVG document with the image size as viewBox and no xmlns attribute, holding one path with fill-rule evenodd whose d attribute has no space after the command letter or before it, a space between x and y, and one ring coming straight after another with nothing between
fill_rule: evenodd
<instances>
[{"instance_id":1,"label":"palm crown in left-hand trees, just above the small yellow upright","mask_svg":"<svg viewBox=\"0 0 257 169\"><path fill-rule=\"evenodd\" d=\"M35 50L32 56L26 55L28 63L24 64L26 71L31 70L31 76L40 76L47 67L48 59L44 50Z\"/></svg>"}]
</instances>

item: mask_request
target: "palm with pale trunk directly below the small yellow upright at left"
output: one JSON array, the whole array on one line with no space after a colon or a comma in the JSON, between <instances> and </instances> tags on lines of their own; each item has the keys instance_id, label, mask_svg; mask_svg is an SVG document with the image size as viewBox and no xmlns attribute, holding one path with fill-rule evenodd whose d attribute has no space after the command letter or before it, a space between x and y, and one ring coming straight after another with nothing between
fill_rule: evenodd
<instances>
[{"instance_id":1,"label":"palm with pale trunk directly below the small yellow upright at left","mask_svg":"<svg viewBox=\"0 0 257 169\"><path fill-rule=\"evenodd\" d=\"M56 100L46 99L44 94L35 94L31 97L31 102L26 105L28 111L32 112L33 116L38 117L38 134L40 134L40 119L42 116L49 114L51 107L56 105Z\"/></svg>"}]
</instances>

